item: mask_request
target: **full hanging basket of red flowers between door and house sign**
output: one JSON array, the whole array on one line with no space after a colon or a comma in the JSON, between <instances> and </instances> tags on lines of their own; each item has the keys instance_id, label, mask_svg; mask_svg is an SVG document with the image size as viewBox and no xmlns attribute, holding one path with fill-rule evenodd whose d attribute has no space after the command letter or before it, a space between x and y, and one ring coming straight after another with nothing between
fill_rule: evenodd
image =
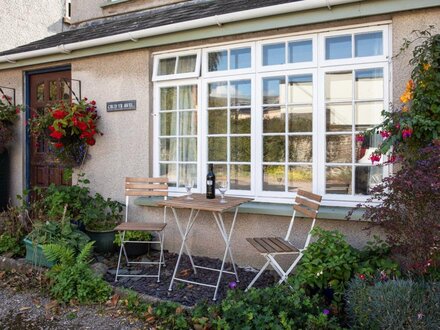
<instances>
[{"instance_id":1,"label":"full hanging basket of red flowers between door and house sign","mask_svg":"<svg viewBox=\"0 0 440 330\"><path fill-rule=\"evenodd\" d=\"M102 135L96 127L99 118L95 101L88 102L87 98L78 103L61 101L43 113L34 113L30 130L34 136L49 140L51 150L65 165L75 167L84 162L96 136Z\"/></svg>"}]
</instances>

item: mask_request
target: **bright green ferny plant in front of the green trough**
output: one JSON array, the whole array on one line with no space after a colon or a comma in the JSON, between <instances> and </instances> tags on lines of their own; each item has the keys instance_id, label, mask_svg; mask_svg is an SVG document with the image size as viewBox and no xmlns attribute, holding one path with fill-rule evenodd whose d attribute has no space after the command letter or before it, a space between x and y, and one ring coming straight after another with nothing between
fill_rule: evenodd
<instances>
[{"instance_id":1,"label":"bright green ferny plant in front of the green trough","mask_svg":"<svg viewBox=\"0 0 440 330\"><path fill-rule=\"evenodd\" d=\"M88 258L93 242L87 243L78 255L62 244L43 246L44 254L50 261L57 262L48 271L53 282L50 292L59 301L78 301L81 304L105 302L110 293L110 286L97 277L89 267Z\"/></svg>"}]
</instances>

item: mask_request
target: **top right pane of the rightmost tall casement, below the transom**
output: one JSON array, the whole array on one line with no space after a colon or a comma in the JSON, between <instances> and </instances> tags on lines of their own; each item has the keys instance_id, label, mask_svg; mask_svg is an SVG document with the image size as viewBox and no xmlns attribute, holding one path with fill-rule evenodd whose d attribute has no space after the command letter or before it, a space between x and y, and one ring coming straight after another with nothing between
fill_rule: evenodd
<instances>
[{"instance_id":1,"label":"top right pane of the rightmost tall casement, below the transom","mask_svg":"<svg viewBox=\"0 0 440 330\"><path fill-rule=\"evenodd\" d=\"M357 70L355 77L356 99L371 100L383 98L383 70L381 68Z\"/></svg>"}]
</instances>

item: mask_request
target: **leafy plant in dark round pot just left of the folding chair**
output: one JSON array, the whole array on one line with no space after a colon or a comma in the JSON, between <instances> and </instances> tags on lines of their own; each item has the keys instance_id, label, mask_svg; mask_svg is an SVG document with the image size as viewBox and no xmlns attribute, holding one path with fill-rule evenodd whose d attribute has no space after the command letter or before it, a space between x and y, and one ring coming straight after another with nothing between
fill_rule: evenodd
<instances>
[{"instance_id":1,"label":"leafy plant in dark round pot just left of the folding chair","mask_svg":"<svg viewBox=\"0 0 440 330\"><path fill-rule=\"evenodd\" d=\"M124 204L110 198L105 199L96 193L94 197L90 197L86 207L81 211L81 220L86 226L87 235L95 241L96 252L114 251L114 228L122 220L123 207Z\"/></svg>"}]
</instances>

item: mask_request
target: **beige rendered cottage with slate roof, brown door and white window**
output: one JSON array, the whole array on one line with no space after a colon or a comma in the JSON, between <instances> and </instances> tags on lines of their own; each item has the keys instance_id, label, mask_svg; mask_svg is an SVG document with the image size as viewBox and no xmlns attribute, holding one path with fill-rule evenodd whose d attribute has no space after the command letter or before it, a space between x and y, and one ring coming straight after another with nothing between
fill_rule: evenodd
<instances>
[{"instance_id":1,"label":"beige rendered cottage with slate roof, brown door and white window","mask_svg":"<svg viewBox=\"0 0 440 330\"><path fill-rule=\"evenodd\" d=\"M232 246L239 264L258 265L244 238L284 233L298 188L324 195L319 226L355 246L368 240L345 215L389 169L368 160L380 141L356 136L404 90L411 54L395 56L404 38L439 19L438 0L78 0L69 31L0 53L0 86L38 108L50 84L71 79L96 100L104 135L83 171L109 197L123 200L126 176L167 176L175 194L191 177L204 192L213 163L227 194L255 200ZM127 102L131 110L111 111ZM62 168L19 129L11 195L61 183ZM160 216L137 202L139 214ZM194 228L204 237L190 241L194 254L221 253L215 229ZM170 221L166 248L179 244Z\"/></svg>"}]
</instances>

